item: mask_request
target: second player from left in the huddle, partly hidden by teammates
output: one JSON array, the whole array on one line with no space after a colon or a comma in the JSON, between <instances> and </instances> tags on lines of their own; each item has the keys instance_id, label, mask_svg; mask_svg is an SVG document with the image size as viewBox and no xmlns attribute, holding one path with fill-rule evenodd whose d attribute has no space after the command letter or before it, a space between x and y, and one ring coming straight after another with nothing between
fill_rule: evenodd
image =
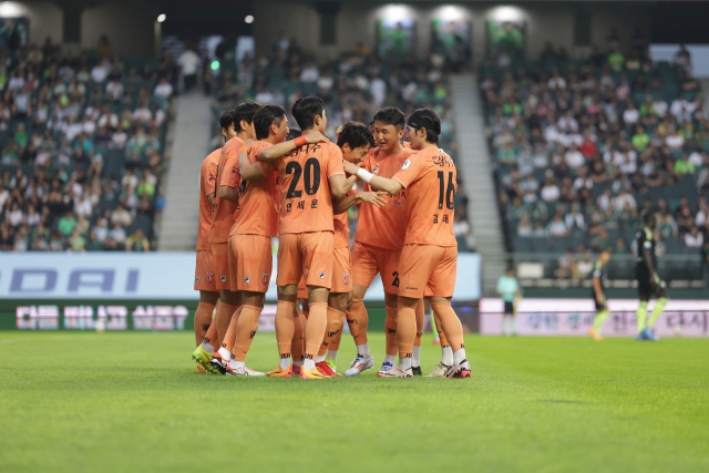
<instances>
[{"instance_id":1,"label":"second player from left in the huddle, partly hidden by teammates","mask_svg":"<svg viewBox=\"0 0 709 473\"><path fill-rule=\"evenodd\" d=\"M209 363L215 347L220 347L232 317L242 305L240 292L232 291L229 285L228 237L234 224L239 197L240 176L238 173L238 151L246 140L253 138L254 114L260 107L258 103L246 102L234 109L234 128L236 135L229 140L219 155L215 177L214 213L209 227L209 248L214 258L216 288L219 292L219 305L214 323L207 331L202 345L193 353L195 359L214 372Z\"/></svg>"}]
</instances>

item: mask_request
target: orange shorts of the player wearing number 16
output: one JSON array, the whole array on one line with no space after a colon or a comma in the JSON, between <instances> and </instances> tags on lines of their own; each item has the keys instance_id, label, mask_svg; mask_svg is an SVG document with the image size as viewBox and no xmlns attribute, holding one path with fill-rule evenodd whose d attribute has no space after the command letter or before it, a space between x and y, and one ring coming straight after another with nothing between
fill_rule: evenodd
<instances>
[{"instance_id":1,"label":"orange shorts of the player wearing number 16","mask_svg":"<svg viewBox=\"0 0 709 473\"><path fill-rule=\"evenodd\" d=\"M453 297L458 247L404 245L399 261L399 296Z\"/></svg>"}]
</instances>

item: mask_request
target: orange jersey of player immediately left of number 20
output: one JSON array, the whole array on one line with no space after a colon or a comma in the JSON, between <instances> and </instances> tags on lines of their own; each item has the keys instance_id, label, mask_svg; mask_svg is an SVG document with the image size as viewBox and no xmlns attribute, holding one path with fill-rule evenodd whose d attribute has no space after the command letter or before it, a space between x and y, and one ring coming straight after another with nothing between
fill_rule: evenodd
<instances>
[{"instance_id":1,"label":"orange jersey of player immediately left of number 20","mask_svg":"<svg viewBox=\"0 0 709 473\"><path fill-rule=\"evenodd\" d=\"M278 207L279 189L276 165L261 163L258 155L264 148L273 146L267 142L254 142L248 150L248 161L258 163L258 168L264 175L255 181L242 184L242 197L239 198L236 219L232 226L229 236L233 235L260 235L278 236Z\"/></svg>"}]
</instances>

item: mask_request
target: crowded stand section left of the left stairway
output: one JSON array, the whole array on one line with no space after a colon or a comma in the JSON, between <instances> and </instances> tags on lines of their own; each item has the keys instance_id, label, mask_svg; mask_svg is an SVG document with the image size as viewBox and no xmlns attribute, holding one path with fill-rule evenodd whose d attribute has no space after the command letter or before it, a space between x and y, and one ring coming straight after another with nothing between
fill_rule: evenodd
<instances>
[{"instance_id":1,"label":"crowded stand section left of the left stairway","mask_svg":"<svg viewBox=\"0 0 709 473\"><path fill-rule=\"evenodd\" d=\"M172 78L168 56L0 51L0 249L151 249Z\"/></svg>"}]
</instances>

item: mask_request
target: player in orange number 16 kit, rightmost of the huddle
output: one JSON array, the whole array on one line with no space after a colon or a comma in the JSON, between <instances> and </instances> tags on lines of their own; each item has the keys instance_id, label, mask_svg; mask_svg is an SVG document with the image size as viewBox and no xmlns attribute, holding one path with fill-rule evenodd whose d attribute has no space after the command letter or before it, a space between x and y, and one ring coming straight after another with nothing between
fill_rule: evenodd
<instances>
[{"instance_id":1,"label":"player in orange number 16 kit, rightmost of the huddle","mask_svg":"<svg viewBox=\"0 0 709 473\"><path fill-rule=\"evenodd\" d=\"M458 244L453 234L455 165L436 146L441 120L435 112L417 110L409 117L407 131L411 148L417 153L404 161L392 178L345 163L348 173L357 174L371 187L390 195L403 189L409 194L405 239L399 260L399 364L377 374L386 378L413 377L411 358L417 337L415 308L420 299L427 297L453 350L453 366L443 377L469 378L471 368L465 358L463 327L451 307L458 264Z\"/></svg>"}]
</instances>

